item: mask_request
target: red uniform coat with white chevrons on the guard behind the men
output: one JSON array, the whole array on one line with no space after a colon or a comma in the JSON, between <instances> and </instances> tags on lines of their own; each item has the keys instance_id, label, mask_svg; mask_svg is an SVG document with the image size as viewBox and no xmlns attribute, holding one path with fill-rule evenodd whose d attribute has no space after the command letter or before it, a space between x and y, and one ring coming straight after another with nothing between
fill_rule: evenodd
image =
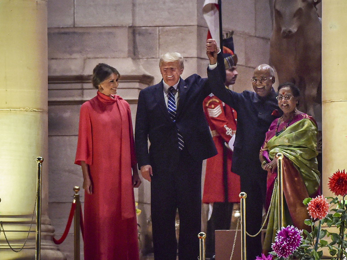
<instances>
[{"instance_id":1,"label":"red uniform coat with white chevrons on the guard behind the men","mask_svg":"<svg viewBox=\"0 0 347 260\"><path fill-rule=\"evenodd\" d=\"M236 111L214 95L204 99L203 108L218 154L207 159L202 202L224 202L223 146L236 133ZM227 150L228 201L239 203L240 177L231 172L232 151Z\"/></svg>"}]
</instances>

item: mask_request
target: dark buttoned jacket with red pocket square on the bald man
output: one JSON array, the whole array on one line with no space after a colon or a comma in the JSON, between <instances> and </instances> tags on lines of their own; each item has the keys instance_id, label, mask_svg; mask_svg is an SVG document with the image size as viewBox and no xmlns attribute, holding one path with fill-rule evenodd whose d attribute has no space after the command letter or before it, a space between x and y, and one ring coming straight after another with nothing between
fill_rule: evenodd
<instances>
[{"instance_id":1,"label":"dark buttoned jacket with red pocket square on the bald man","mask_svg":"<svg viewBox=\"0 0 347 260\"><path fill-rule=\"evenodd\" d=\"M225 88L219 68L208 70L214 95L237 112L237 130L232 157L232 171L238 175L254 176L263 171L259 161L259 151L271 122L282 111L278 107L276 92L272 88L267 97L245 90L236 93ZM271 115L278 110L279 115Z\"/></svg>"}]
</instances>

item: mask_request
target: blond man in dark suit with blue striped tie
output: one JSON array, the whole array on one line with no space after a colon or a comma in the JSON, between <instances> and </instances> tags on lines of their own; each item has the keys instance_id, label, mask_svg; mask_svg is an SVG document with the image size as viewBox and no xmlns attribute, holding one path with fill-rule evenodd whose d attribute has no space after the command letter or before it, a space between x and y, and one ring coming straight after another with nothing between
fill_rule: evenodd
<instances>
[{"instance_id":1,"label":"blond man in dark suit with blue striped tie","mask_svg":"<svg viewBox=\"0 0 347 260\"><path fill-rule=\"evenodd\" d=\"M216 54L209 55L209 66L216 67L219 48L214 40L208 40L206 51ZM222 54L218 59L223 61ZM176 260L178 209L178 257L195 260L201 231L202 161L217 154L202 107L211 88L207 78L196 74L180 77L184 65L177 52L164 54L159 68L162 81L139 93L135 124L138 167L151 182L154 259Z\"/></svg>"}]
</instances>

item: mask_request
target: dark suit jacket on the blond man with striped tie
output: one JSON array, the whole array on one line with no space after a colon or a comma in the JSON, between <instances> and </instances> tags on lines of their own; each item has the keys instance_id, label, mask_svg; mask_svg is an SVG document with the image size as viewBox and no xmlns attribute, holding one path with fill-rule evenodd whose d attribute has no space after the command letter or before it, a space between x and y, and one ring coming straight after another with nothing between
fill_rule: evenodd
<instances>
[{"instance_id":1,"label":"dark suit jacket on the blond man with striped tie","mask_svg":"<svg viewBox=\"0 0 347 260\"><path fill-rule=\"evenodd\" d=\"M211 93L208 79L196 74L185 80L180 78L175 123L170 118L163 91L161 81L141 90L138 97L135 123L138 167L150 164L153 171L174 171L179 156L177 128L192 159L202 161L216 155L202 107L204 98Z\"/></svg>"}]
</instances>

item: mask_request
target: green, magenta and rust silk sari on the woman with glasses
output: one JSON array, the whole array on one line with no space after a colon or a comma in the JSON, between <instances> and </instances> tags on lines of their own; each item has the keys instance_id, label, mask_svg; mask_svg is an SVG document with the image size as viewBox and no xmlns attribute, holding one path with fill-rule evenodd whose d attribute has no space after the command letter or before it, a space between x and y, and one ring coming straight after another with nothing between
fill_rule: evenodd
<instances>
[{"instance_id":1,"label":"green, magenta and rust silk sari on the woman with glasses","mask_svg":"<svg viewBox=\"0 0 347 260\"><path fill-rule=\"evenodd\" d=\"M262 150L268 151L270 160L275 158L277 153L284 155L282 160L283 208L285 211L283 226L294 225L299 229L306 229L308 226L304 225L304 220L310 216L302 201L319 192L320 185L320 173L316 159L318 155L316 151L317 127L311 120L312 117L306 114L299 114L295 116L295 119L297 121L294 120L294 123L278 136L275 135L277 120L272 122L272 127L270 126L270 130L266 133ZM275 179L277 180L277 173L268 172L267 199L271 197L272 187L275 191L263 244L264 253L272 251L271 243L278 231L278 182Z\"/></svg>"}]
</instances>

